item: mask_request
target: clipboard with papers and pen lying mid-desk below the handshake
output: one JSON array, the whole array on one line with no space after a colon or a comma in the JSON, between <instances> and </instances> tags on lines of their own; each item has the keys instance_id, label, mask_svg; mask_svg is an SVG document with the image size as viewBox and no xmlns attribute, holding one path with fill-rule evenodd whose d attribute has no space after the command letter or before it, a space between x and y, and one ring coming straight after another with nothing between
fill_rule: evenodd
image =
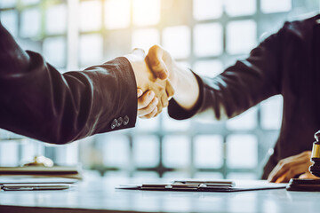
<instances>
[{"instance_id":1,"label":"clipboard with papers and pen lying mid-desk below the handshake","mask_svg":"<svg viewBox=\"0 0 320 213\"><path fill-rule=\"evenodd\" d=\"M168 183L147 183L142 185L119 185L116 189L192 191L231 193L253 190L285 188L287 184L268 183L265 180L174 180Z\"/></svg>"}]
</instances>

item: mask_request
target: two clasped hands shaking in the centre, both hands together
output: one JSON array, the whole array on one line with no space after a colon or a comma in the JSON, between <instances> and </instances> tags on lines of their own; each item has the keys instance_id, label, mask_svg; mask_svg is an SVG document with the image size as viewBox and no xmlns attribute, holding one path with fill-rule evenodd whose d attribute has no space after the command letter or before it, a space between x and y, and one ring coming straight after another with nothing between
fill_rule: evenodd
<instances>
[{"instance_id":1,"label":"two clasped hands shaking in the centre, both hands together","mask_svg":"<svg viewBox=\"0 0 320 213\"><path fill-rule=\"evenodd\" d=\"M162 47L151 47L148 55L143 50L134 49L124 57L130 61L136 78L140 118L156 117L173 96L186 110L196 105L199 88L195 75L179 67Z\"/></svg>"}]
</instances>

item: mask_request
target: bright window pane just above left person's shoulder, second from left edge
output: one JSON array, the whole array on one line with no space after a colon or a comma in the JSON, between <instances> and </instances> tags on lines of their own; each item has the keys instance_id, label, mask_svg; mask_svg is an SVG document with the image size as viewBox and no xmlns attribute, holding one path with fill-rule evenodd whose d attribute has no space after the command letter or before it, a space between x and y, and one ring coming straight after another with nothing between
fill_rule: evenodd
<instances>
[{"instance_id":1,"label":"bright window pane just above left person's shoulder, second from left edge","mask_svg":"<svg viewBox=\"0 0 320 213\"><path fill-rule=\"evenodd\" d=\"M21 34L22 37L35 37L40 34L41 14L38 8L32 8L21 12Z\"/></svg>"}]
</instances>

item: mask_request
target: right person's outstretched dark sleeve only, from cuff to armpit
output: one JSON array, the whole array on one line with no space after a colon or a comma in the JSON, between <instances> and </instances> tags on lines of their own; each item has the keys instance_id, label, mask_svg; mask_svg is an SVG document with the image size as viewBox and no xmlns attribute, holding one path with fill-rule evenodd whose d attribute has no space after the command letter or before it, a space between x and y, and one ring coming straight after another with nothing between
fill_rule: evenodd
<instances>
[{"instance_id":1,"label":"right person's outstretched dark sleeve only, from cuff to armpit","mask_svg":"<svg viewBox=\"0 0 320 213\"><path fill-rule=\"evenodd\" d=\"M284 55L281 47L285 31L286 28L282 28L269 36L251 51L247 59L238 60L214 78L195 74L200 88L196 106L186 111L172 99L168 108L170 116L182 120L203 114L205 119L228 119L281 93Z\"/></svg>"}]
</instances>

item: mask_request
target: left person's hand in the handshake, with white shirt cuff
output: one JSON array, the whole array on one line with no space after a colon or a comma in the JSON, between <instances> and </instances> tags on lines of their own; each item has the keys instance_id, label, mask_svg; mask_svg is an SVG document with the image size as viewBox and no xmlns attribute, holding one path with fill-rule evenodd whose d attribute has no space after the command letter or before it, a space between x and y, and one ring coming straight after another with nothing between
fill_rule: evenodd
<instances>
[{"instance_id":1,"label":"left person's hand in the handshake, with white shirt cuff","mask_svg":"<svg viewBox=\"0 0 320 213\"><path fill-rule=\"evenodd\" d=\"M140 49L134 49L132 53L124 56L132 65L138 87L138 115L150 118L161 113L168 106L169 98L174 94L172 85L161 80L148 68L146 55ZM144 91L145 94L142 96ZM156 113L155 113L156 111Z\"/></svg>"}]
</instances>

